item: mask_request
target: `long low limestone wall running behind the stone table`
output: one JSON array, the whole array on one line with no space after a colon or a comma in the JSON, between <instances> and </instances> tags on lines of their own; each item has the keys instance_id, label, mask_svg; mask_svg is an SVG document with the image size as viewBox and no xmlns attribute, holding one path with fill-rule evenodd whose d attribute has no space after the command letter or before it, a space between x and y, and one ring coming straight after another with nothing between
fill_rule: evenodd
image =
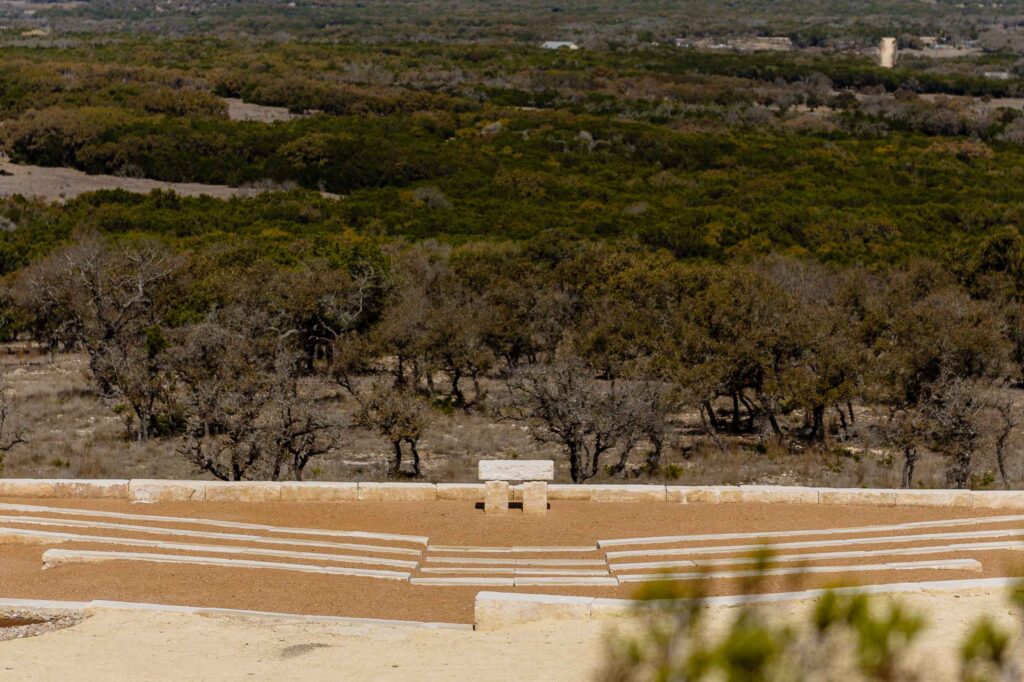
<instances>
[{"instance_id":1,"label":"long low limestone wall running behind the stone table","mask_svg":"<svg viewBox=\"0 0 1024 682\"><path fill-rule=\"evenodd\" d=\"M522 501L513 485L512 500ZM0 498L113 499L131 502L423 502L483 500L483 483L378 483L0 478ZM923 491L786 485L643 485L555 483L550 500L596 503L786 503L1024 509L1024 491Z\"/></svg>"}]
</instances>

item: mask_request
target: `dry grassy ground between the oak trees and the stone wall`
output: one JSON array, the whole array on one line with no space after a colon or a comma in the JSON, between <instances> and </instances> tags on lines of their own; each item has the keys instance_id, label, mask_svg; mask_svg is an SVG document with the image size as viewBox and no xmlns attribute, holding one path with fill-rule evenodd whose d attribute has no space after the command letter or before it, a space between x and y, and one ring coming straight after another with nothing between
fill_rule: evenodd
<instances>
[{"instance_id":1,"label":"dry grassy ground between the oak trees and the stone wall","mask_svg":"<svg viewBox=\"0 0 1024 682\"><path fill-rule=\"evenodd\" d=\"M13 412L28 428L28 444L7 453L0 475L34 478L194 478L201 474L176 454L176 438L129 442L125 427L114 411L96 395L82 355L59 354L50 361L45 354L24 346L0 347L0 380L13 396ZM328 387L330 388L330 387ZM487 386L494 392L501 386ZM334 389L339 394L337 389ZM1019 392L1018 392L1019 393ZM343 406L343 410L347 408ZM354 408L352 408L354 409ZM872 415L857 410L858 425L865 432ZM722 451L699 429L696 415L680 415L670 433L657 475L639 474L644 453L631 463L632 475L599 473L598 482L667 482L685 485L764 483L826 485L833 487L896 487L900 459L871 447L866 441L835 443L829 453L801 449L756 452L755 436L726 437ZM1018 429L1019 431L1019 429ZM1011 438L1008 467L1012 485L1024 482L1021 433ZM641 449L642 450L642 449ZM975 462L979 486L997 487L995 462L987 445ZM484 414L432 413L420 442L424 477L437 482L476 480L481 458L553 459L557 478L568 481L568 466L557 447L540 444L518 423L498 421ZM306 469L307 480L384 480L391 446L360 429L346 431L333 453ZM639 475L638 475L639 474ZM915 482L924 487L944 487L945 462L922 454Z\"/></svg>"}]
</instances>

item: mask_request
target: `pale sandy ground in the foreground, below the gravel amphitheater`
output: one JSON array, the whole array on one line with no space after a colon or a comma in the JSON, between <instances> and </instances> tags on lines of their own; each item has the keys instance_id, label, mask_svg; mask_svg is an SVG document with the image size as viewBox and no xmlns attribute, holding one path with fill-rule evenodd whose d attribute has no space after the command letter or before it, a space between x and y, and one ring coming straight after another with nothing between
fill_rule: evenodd
<instances>
[{"instance_id":1,"label":"pale sandy ground in the foreground, below the gravel amphitheater","mask_svg":"<svg viewBox=\"0 0 1024 682\"><path fill-rule=\"evenodd\" d=\"M988 614L1017 631L1001 590L900 597L930 627L908 665L954 680L958 642ZM813 602L771 606L793 619ZM717 607L724 623L734 609ZM723 617L724 616L724 617ZM0 680L589 680L628 622L551 622L499 632L309 624L98 610L69 630L0 642Z\"/></svg>"}]
</instances>

